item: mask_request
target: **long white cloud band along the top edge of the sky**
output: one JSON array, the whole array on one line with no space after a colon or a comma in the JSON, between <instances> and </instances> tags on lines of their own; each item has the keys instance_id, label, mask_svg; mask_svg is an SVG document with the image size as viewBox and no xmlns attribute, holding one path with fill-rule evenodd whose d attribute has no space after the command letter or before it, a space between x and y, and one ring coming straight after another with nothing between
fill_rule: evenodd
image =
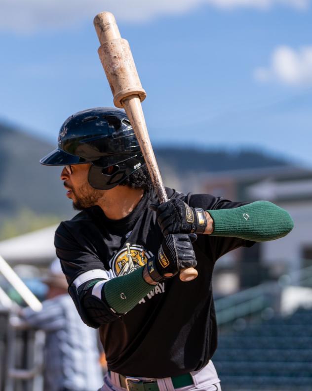
<instances>
[{"instance_id":1,"label":"long white cloud band along the top edge of the sky","mask_svg":"<svg viewBox=\"0 0 312 391\"><path fill-rule=\"evenodd\" d=\"M1 0L0 29L18 33L64 28L90 20L105 10L118 20L144 21L158 15L185 13L203 4L223 9L268 9L286 5L306 9L311 0Z\"/></svg>"}]
</instances>

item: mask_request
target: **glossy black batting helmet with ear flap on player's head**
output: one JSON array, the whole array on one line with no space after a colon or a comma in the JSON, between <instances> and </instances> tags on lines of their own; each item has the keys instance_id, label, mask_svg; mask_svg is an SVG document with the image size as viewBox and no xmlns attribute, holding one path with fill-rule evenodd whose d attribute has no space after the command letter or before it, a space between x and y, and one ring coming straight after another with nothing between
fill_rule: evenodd
<instances>
[{"instance_id":1,"label":"glossy black batting helmet with ear flap on player's head","mask_svg":"<svg viewBox=\"0 0 312 391\"><path fill-rule=\"evenodd\" d=\"M79 111L62 125L58 148L40 160L46 166L91 163L90 185L108 190L144 164L126 114L110 107ZM113 166L113 169L108 167Z\"/></svg>"}]
</instances>

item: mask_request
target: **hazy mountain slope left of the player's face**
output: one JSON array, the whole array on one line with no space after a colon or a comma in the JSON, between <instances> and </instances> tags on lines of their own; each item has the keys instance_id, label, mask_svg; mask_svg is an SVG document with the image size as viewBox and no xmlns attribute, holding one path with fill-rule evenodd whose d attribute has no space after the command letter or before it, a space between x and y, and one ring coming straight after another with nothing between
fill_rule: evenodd
<instances>
[{"instance_id":1,"label":"hazy mountain slope left of the player's face","mask_svg":"<svg viewBox=\"0 0 312 391\"><path fill-rule=\"evenodd\" d=\"M0 125L0 217L12 217L23 208L36 214L68 214L60 168L39 164L52 148L46 141Z\"/></svg>"}]
</instances>

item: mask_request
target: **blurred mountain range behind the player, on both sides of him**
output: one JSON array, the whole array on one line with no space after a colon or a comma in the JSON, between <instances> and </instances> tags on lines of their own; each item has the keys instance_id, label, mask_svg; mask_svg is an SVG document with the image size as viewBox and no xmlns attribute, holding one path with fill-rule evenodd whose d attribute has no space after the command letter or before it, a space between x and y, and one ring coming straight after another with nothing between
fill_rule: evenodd
<instances>
[{"instance_id":1,"label":"blurred mountain range behind the player, on both sides of him","mask_svg":"<svg viewBox=\"0 0 312 391\"><path fill-rule=\"evenodd\" d=\"M11 218L22 210L36 215L73 215L71 201L59 178L60 167L44 167L39 159L55 146L26 132L0 124L0 218ZM285 166L286 160L256 151L203 151L181 148L156 148L156 157L166 185L185 191L195 189L186 183L186 174L196 174Z\"/></svg>"}]
</instances>

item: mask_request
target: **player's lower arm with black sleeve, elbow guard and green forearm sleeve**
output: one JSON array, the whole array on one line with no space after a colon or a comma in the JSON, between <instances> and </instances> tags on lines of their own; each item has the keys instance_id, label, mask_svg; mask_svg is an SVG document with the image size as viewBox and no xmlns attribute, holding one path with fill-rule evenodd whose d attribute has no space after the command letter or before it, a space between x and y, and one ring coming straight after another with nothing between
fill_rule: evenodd
<instances>
[{"instance_id":1,"label":"player's lower arm with black sleeve, elbow guard and green forearm sleeve","mask_svg":"<svg viewBox=\"0 0 312 391\"><path fill-rule=\"evenodd\" d=\"M55 247L69 294L82 321L90 327L114 322L154 288L145 282L143 267L118 277L106 270L83 224L73 229L70 223L61 223L55 233Z\"/></svg>"}]
</instances>

